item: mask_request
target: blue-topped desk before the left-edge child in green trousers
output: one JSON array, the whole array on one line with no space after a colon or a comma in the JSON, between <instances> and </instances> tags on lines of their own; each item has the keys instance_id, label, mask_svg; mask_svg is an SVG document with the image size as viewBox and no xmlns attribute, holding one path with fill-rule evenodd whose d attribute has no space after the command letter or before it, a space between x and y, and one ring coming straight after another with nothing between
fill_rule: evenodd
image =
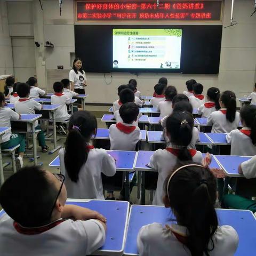
<instances>
[{"instance_id":1,"label":"blue-topped desk before the left-edge child in green trousers","mask_svg":"<svg viewBox=\"0 0 256 256\"><path fill-rule=\"evenodd\" d=\"M11 122L13 132L32 133L34 164L37 165L37 146L35 122L42 117L39 114L21 114L21 119Z\"/></svg>"}]
</instances>

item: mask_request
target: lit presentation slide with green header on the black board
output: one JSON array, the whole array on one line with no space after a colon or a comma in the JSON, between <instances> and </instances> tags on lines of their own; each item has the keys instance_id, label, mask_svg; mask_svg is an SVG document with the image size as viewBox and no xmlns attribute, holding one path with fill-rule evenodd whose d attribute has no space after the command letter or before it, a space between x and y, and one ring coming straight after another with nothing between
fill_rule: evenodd
<instances>
[{"instance_id":1,"label":"lit presentation slide with green header on the black board","mask_svg":"<svg viewBox=\"0 0 256 256\"><path fill-rule=\"evenodd\" d=\"M113 68L180 69L182 29L113 29Z\"/></svg>"}]
</instances>

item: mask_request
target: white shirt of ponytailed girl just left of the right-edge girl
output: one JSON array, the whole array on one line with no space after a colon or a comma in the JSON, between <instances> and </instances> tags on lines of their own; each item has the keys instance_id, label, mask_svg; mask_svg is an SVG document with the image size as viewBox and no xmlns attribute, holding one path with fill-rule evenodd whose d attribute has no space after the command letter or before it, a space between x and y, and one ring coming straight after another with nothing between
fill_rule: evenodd
<instances>
[{"instance_id":1,"label":"white shirt of ponytailed girl just left of the right-edge girl","mask_svg":"<svg viewBox=\"0 0 256 256\"><path fill-rule=\"evenodd\" d=\"M235 120L230 123L226 118L226 108L221 108L218 111L214 111L207 119L207 125L212 125L211 132L223 132L229 133L232 130L237 129L237 126L240 122L240 114L236 111Z\"/></svg>"}]
</instances>

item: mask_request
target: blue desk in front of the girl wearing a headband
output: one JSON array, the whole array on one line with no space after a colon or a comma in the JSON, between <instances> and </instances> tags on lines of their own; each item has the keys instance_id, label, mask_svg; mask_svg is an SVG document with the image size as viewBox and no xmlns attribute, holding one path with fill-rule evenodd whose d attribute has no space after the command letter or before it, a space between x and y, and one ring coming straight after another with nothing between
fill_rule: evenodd
<instances>
[{"instance_id":1,"label":"blue desk in front of the girl wearing a headband","mask_svg":"<svg viewBox=\"0 0 256 256\"><path fill-rule=\"evenodd\" d=\"M256 221L251 211L216 209L219 225L235 228L239 237L236 256L254 255L256 251ZM173 218L170 208L164 206L132 205L129 214L128 231L124 255L138 255L137 235L142 226L153 222L170 224ZM170 249L171 250L171 249Z\"/></svg>"}]
</instances>

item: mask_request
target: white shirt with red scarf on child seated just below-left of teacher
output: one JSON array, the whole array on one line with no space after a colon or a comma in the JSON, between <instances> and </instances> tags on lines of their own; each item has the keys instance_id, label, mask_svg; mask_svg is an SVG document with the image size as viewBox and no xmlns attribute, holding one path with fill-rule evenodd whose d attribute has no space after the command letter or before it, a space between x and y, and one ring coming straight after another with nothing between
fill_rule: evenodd
<instances>
[{"instance_id":1,"label":"white shirt with red scarf on child seated just below-left of teacher","mask_svg":"<svg viewBox=\"0 0 256 256\"><path fill-rule=\"evenodd\" d=\"M70 117L68 114L67 105L71 102L70 98L63 93L54 93L51 95L51 104L58 104L60 107L55 112L56 122L67 121Z\"/></svg>"}]
</instances>

